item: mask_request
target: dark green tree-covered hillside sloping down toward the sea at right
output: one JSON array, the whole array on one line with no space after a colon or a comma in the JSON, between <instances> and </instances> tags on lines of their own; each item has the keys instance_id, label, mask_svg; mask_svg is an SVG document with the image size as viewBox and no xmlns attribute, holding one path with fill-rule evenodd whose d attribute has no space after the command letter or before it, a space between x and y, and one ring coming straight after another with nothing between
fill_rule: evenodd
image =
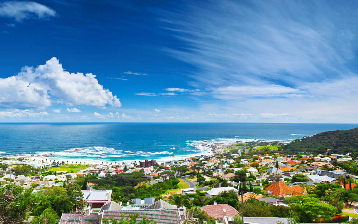
<instances>
[{"instance_id":1,"label":"dark green tree-covered hillside sloping down toward the sea at right","mask_svg":"<svg viewBox=\"0 0 358 224\"><path fill-rule=\"evenodd\" d=\"M286 153L358 153L358 128L322 132L281 147Z\"/></svg>"}]
</instances>

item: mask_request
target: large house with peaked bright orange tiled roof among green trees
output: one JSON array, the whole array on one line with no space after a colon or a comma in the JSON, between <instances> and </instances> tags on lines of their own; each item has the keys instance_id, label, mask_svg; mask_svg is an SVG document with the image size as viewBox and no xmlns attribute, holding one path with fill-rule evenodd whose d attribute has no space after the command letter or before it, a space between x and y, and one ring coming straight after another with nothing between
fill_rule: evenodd
<instances>
[{"instance_id":1,"label":"large house with peaked bright orange tiled roof among green trees","mask_svg":"<svg viewBox=\"0 0 358 224\"><path fill-rule=\"evenodd\" d=\"M287 186L283 181L278 181L266 187L265 192L276 197L286 197L297 194L304 194L304 189L298 185Z\"/></svg>"}]
</instances>

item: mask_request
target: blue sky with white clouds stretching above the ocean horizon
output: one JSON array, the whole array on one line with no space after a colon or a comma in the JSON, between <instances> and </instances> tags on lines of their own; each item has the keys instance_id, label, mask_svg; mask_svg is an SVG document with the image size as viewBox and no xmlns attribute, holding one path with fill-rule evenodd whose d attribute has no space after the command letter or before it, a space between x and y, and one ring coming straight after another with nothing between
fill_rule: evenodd
<instances>
[{"instance_id":1,"label":"blue sky with white clouds stretching above the ocean horizon","mask_svg":"<svg viewBox=\"0 0 358 224\"><path fill-rule=\"evenodd\" d=\"M0 1L0 122L358 123L356 1Z\"/></svg>"}]
</instances>

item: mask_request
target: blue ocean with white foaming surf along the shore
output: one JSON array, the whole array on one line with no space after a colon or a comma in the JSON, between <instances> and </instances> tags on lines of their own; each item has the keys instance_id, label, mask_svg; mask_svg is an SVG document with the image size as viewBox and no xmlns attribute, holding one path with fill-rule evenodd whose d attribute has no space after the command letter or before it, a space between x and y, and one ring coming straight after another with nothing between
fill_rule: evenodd
<instances>
[{"instance_id":1,"label":"blue ocean with white foaming surf along the shore","mask_svg":"<svg viewBox=\"0 0 358 224\"><path fill-rule=\"evenodd\" d=\"M287 140L358 124L0 123L0 156L70 162L158 162L211 152L203 144Z\"/></svg>"}]
</instances>

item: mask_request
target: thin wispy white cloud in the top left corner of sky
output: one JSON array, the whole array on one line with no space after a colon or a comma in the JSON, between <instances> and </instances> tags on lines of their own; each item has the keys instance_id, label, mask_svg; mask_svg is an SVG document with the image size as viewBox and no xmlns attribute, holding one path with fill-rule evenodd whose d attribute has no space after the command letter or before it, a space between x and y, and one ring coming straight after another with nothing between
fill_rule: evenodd
<instances>
[{"instance_id":1,"label":"thin wispy white cloud in the top left corner of sky","mask_svg":"<svg viewBox=\"0 0 358 224\"><path fill-rule=\"evenodd\" d=\"M25 19L45 19L56 15L53 9L33 1L6 1L0 4L0 16L13 18L17 22Z\"/></svg>"}]
</instances>

